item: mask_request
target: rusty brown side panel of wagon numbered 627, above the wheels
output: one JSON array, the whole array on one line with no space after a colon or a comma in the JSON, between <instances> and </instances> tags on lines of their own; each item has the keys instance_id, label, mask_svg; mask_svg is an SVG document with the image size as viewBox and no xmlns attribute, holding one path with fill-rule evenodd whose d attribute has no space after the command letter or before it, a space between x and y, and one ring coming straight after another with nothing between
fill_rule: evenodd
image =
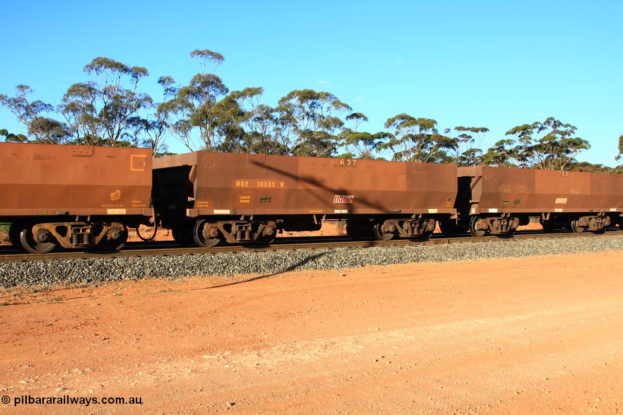
<instances>
[{"instance_id":1,"label":"rusty brown side panel of wagon numbered 627, above the wheels","mask_svg":"<svg viewBox=\"0 0 623 415\"><path fill-rule=\"evenodd\" d=\"M189 216L449 213L454 207L454 165L195 154Z\"/></svg>"}]
</instances>

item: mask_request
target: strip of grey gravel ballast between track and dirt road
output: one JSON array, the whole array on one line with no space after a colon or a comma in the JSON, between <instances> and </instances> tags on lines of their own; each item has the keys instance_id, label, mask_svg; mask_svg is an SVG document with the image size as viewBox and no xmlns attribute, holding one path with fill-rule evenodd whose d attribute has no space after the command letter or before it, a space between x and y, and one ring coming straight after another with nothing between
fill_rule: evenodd
<instances>
[{"instance_id":1,"label":"strip of grey gravel ballast between track and dirt road","mask_svg":"<svg viewBox=\"0 0 623 415\"><path fill-rule=\"evenodd\" d=\"M444 262L500 257L576 254L623 249L623 235L503 240L421 246L279 250L235 254L98 258L0 263L0 287L102 284L145 278L240 274L269 276L287 271L338 270L365 265ZM605 259L605 257L604 257Z\"/></svg>"}]
</instances>

